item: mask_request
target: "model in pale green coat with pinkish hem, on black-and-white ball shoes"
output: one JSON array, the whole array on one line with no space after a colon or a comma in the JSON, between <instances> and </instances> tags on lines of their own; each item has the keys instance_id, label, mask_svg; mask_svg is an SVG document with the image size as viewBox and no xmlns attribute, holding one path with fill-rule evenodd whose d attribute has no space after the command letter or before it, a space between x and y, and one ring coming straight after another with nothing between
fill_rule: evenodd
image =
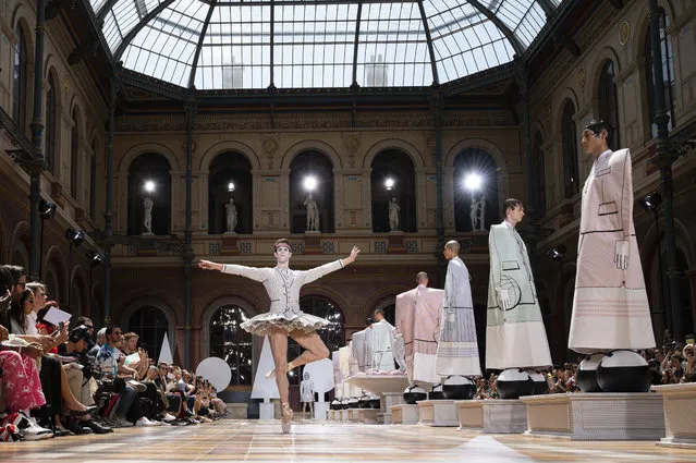
<instances>
[{"instance_id":1,"label":"model in pale green coat with pinkish hem, on black-and-white ball shoes","mask_svg":"<svg viewBox=\"0 0 696 463\"><path fill-rule=\"evenodd\" d=\"M548 389L537 369L551 366L551 353L527 246L515 229L524 206L520 199L505 199L503 214L505 220L491 226L488 234L486 368L503 370L498 377L501 399L517 399Z\"/></svg>"}]
</instances>

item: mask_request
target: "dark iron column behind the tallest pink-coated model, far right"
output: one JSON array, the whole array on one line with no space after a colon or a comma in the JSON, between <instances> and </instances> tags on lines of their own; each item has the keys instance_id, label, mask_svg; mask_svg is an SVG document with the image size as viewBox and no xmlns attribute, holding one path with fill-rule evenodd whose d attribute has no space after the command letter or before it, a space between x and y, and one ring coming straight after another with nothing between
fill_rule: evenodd
<instances>
[{"instance_id":1,"label":"dark iron column behind the tallest pink-coated model, far right","mask_svg":"<svg viewBox=\"0 0 696 463\"><path fill-rule=\"evenodd\" d=\"M682 310L679 306L680 284L679 268L676 266L676 241L674 239L673 197L674 181L672 179L672 162L676 157L670 149L668 138L668 122L670 120L664 103L664 75L662 74L662 48L660 47L660 17L662 9L658 0L649 0L650 5L650 45L652 49L652 75L655 76L655 122L658 126L657 153L652 159L660 168L662 198L664 199L664 241L667 244L667 278L669 281L668 301L672 315L672 339L684 339L682 326ZM649 72L649 70L648 70Z\"/></svg>"}]
</instances>

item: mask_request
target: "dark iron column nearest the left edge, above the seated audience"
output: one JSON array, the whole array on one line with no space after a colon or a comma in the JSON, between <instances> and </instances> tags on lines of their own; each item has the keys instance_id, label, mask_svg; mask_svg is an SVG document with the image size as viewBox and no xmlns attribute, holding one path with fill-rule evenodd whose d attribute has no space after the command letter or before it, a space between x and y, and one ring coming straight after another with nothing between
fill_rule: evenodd
<instances>
[{"instance_id":1,"label":"dark iron column nearest the left edge, above the seated audience","mask_svg":"<svg viewBox=\"0 0 696 463\"><path fill-rule=\"evenodd\" d=\"M39 203L41 202L41 172L45 169L41 135L44 134L44 119L41 106L44 101L44 25L46 24L46 0L36 2L36 52L34 54L34 112L32 117L32 145L34 159L29 167L29 279L38 281L40 249Z\"/></svg>"}]
</instances>

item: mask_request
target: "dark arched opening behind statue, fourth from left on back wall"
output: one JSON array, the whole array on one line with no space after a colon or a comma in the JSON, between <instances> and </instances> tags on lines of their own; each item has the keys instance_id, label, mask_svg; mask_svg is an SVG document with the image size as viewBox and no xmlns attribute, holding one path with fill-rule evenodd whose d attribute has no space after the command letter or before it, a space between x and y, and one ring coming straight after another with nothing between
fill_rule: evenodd
<instances>
[{"instance_id":1,"label":"dark arched opening behind statue, fourth from left on back wall","mask_svg":"<svg viewBox=\"0 0 696 463\"><path fill-rule=\"evenodd\" d=\"M396 149L388 149L375 156L370 174L373 198L373 231L391 231L389 203L396 199L399 205L399 230L417 231L416 223L416 176L411 157ZM393 186L388 188L386 181Z\"/></svg>"}]
</instances>

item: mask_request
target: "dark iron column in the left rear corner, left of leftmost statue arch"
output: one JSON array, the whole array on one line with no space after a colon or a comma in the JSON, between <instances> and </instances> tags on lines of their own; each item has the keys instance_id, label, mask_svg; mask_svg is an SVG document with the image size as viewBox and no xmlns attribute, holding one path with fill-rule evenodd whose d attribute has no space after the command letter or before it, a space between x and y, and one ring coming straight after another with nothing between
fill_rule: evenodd
<instances>
[{"instance_id":1,"label":"dark iron column in the left rear corner, left of leftmost statue arch","mask_svg":"<svg viewBox=\"0 0 696 463\"><path fill-rule=\"evenodd\" d=\"M115 100L119 93L118 73L110 80L109 122L107 129L107 202L105 205L103 224L103 322L111 321L111 247L113 246L113 127L115 119ZM123 215L123 211L121 211ZM126 214L127 215L127 214Z\"/></svg>"}]
</instances>

